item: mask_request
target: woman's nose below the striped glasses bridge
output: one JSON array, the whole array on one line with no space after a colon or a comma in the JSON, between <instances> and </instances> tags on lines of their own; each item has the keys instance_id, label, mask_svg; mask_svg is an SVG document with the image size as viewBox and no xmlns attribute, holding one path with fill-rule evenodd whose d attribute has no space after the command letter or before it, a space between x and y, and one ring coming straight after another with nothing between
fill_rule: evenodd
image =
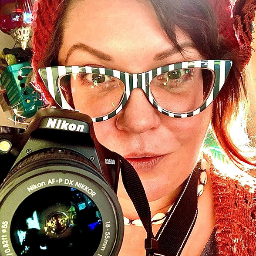
<instances>
[{"instance_id":1,"label":"woman's nose below the striped glasses bridge","mask_svg":"<svg viewBox=\"0 0 256 256\"><path fill-rule=\"evenodd\" d=\"M117 115L116 125L119 130L139 134L157 129L161 123L159 115L162 114L148 101L144 91L135 88Z\"/></svg>"}]
</instances>

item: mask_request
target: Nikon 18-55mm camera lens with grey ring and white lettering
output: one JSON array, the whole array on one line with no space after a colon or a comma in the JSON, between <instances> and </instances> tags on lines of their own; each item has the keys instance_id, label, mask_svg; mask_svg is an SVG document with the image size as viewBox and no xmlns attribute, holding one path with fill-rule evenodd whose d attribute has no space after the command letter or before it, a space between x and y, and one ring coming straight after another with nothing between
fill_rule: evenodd
<instances>
[{"instance_id":1,"label":"Nikon 18-55mm camera lens with grey ring and white lettering","mask_svg":"<svg viewBox=\"0 0 256 256\"><path fill-rule=\"evenodd\" d=\"M123 232L115 192L69 150L29 155L0 187L1 256L116 256Z\"/></svg>"}]
</instances>

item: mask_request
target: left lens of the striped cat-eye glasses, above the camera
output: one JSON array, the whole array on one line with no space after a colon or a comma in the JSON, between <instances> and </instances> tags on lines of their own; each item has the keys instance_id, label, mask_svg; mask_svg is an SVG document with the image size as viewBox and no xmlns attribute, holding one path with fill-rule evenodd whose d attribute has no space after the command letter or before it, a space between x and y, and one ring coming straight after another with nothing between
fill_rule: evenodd
<instances>
[{"instance_id":1,"label":"left lens of the striped cat-eye glasses, above the camera","mask_svg":"<svg viewBox=\"0 0 256 256\"><path fill-rule=\"evenodd\" d=\"M125 85L120 79L104 74L67 74L58 82L67 103L91 118L116 110L125 94Z\"/></svg>"}]
</instances>

